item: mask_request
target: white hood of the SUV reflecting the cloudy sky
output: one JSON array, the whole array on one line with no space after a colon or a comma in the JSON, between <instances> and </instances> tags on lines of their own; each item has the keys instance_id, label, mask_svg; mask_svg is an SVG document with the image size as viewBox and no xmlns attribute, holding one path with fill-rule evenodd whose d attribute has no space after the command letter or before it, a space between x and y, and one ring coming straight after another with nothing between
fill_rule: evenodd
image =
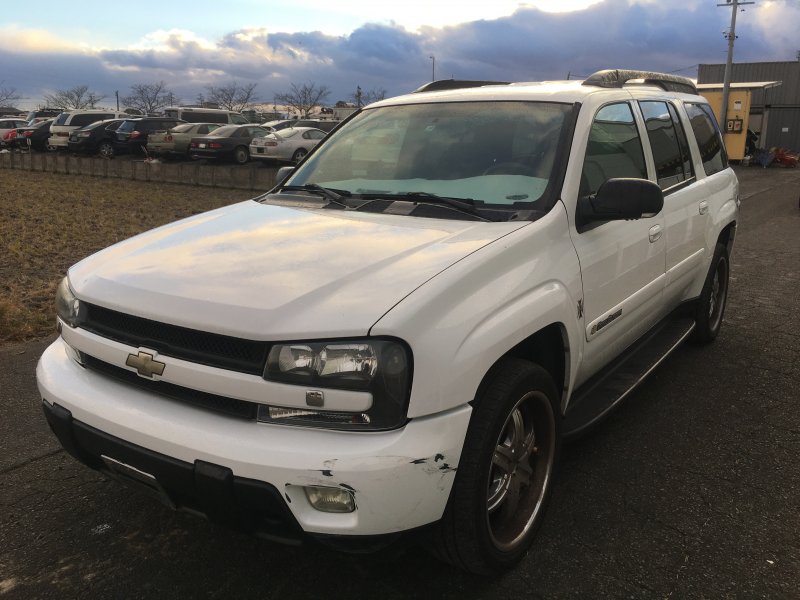
<instances>
[{"instance_id":1,"label":"white hood of the SUV reflecting the cloudy sky","mask_svg":"<svg viewBox=\"0 0 800 600\"><path fill-rule=\"evenodd\" d=\"M525 224L247 201L121 242L69 276L82 300L203 331L367 335L428 279Z\"/></svg>"}]
</instances>

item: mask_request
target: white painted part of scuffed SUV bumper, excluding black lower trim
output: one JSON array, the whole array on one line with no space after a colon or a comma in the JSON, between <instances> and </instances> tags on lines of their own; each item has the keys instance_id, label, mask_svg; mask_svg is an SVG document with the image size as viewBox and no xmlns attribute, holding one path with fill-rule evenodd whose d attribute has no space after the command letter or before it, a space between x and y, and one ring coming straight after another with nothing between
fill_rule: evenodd
<instances>
[{"instance_id":1,"label":"white painted part of scuffed SUV bumper, excluding black lower trim","mask_svg":"<svg viewBox=\"0 0 800 600\"><path fill-rule=\"evenodd\" d=\"M88 371L61 338L42 355L36 375L44 401L80 423L165 457L220 465L273 486L307 533L381 535L441 518L471 414L463 406L381 433L241 421ZM356 511L313 509L303 491L308 485L353 491Z\"/></svg>"}]
</instances>

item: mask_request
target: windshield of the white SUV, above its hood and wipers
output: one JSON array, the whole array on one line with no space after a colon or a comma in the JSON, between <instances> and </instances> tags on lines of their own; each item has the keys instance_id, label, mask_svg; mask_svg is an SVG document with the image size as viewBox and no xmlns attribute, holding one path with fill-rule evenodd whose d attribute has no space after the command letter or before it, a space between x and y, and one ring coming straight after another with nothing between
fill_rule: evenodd
<instances>
[{"instance_id":1,"label":"windshield of the white SUV, above its hood and wipers","mask_svg":"<svg viewBox=\"0 0 800 600\"><path fill-rule=\"evenodd\" d=\"M567 104L450 102L367 109L287 181L353 196L419 193L528 205L553 176ZM531 208L538 207L530 204Z\"/></svg>"}]
</instances>

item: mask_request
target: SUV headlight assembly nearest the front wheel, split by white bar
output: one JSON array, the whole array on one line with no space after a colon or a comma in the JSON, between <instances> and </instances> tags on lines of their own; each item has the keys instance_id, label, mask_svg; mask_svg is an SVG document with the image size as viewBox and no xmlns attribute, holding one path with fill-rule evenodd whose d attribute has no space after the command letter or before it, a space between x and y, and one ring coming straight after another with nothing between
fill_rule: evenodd
<instances>
[{"instance_id":1,"label":"SUV headlight assembly nearest the front wheel, split by white bar","mask_svg":"<svg viewBox=\"0 0 800 600\"><path fill-rule=\"evenodd\" d=\"M259 420L333 429L394 429L405 423L411 388L411 353L395 340L335 340L275 344L264 378L307 386L368 391L364 413L264 406Z\"/></svg>"}]
</instances>

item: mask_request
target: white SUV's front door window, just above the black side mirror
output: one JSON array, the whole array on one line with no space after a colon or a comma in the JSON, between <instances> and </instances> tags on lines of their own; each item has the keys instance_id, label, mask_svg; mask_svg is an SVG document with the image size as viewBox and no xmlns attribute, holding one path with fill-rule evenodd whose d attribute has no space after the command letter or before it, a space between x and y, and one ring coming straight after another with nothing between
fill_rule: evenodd
<instances>
[{"instance_id":1,"label":"white SUV's front door window, just above the black side mirror","mask_svg":"<svg viewBox=\"0 0 800 600\"><path fill-rule=\"evenodd\" d=\"M627 103L601 108L592 123L581 174L581 196L594 194L614 177L647 179L642 142Z\"/></svg>"}]
</instances>

